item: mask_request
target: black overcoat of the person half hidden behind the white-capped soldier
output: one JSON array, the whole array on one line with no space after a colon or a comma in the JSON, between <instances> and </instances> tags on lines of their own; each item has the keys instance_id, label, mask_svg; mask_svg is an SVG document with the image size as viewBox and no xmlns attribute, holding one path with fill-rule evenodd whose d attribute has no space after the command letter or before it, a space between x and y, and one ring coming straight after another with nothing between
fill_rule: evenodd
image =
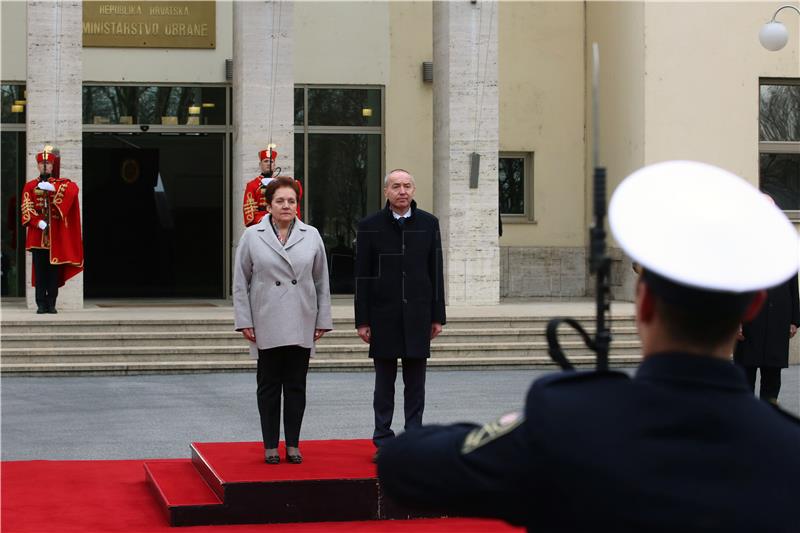
<instances>
[{"instance_id":1,"label":"black overcoat of the person half hidden behind the white-capped soldier","mask_svg":"<svg viewBox=\"0 0 800 533\"><path fill-rule=\"evenodd\" d=\"M789 325L800 327L797 276L767 291L764 308L742 326L744 340L736 343L734 360L742 366L789 366Z\"/></svg>"}]
</instances>

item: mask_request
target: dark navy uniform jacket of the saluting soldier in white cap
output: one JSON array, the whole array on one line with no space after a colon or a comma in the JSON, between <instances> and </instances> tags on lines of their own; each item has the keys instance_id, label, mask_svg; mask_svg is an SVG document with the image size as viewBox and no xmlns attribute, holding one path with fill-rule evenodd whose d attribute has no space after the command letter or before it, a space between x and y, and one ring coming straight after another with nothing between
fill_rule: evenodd
<instances>
[{"instance_id":1,"label":"dark navy uniform jacket of the saluting soldier in white cap","mask_svg":"<svg viewBox=\"0 0 800 533\"><path fill-rule=\"evenodd\" d=\"M486 426L424 426L378 455L387 495L529 531L800 531L800 420L726 361L569 372Z\"/></svg>"}]
</instances>

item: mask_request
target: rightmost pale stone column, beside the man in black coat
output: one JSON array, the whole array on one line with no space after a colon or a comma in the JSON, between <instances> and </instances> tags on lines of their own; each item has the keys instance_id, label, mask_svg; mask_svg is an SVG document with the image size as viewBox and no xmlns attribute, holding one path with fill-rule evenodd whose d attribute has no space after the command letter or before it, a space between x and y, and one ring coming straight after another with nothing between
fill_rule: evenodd
<instances>
[{"instance_id":1,"label":"rightmost pale stone column, beside the man in black coat","mask_svg":"<svg viewBox=\"0 0 800 533\"><path fill-rule=\"evenodd\" d=\"M490 0L433 4L433 195L451 305L500 299L497 10Z\"/></svg>"}]
</instances>

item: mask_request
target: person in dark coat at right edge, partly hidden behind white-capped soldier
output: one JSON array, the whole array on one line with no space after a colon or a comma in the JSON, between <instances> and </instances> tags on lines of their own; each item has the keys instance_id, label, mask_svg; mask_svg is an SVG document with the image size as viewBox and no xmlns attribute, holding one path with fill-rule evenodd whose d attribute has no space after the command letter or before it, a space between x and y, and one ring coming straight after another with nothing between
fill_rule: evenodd
<instances>
[{"instance_id":1,"label":"person in dark coat at right edge, partly hidden behind white-capped soldier","mask_svg":"<svg viewBox=\"0 0 800 533\"><path fill-rule=\"evenodd\" d=\"M755 392L756 370L761 369L762 400L777 402L781 369L789 366L789 339L800 327L797 276L767 291L758 316L742 325L733 360L744 368L750 390Z\"/></svg>"}]
</instances>

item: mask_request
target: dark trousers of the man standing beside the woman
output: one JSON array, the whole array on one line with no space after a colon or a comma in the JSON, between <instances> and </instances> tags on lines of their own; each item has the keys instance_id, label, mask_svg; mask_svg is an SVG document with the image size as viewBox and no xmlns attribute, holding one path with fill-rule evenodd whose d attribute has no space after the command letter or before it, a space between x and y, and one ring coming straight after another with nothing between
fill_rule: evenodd
<instances>
[{"instance_id":1,"label":"dark trousers of the man standing beside the woman","mask_svg":"<svg viewBox=\"0 0 800 533\"><path fill-rule=\"evenodd\" d=\"M425 410L425 358L404 357L403 385L405 430L422 425L422 412ZM376 447L386 439L394 437L392 417L394 415L394 383L397 379L397 359L374 358L375 394L372 407L375 410L375 432L372 442Z\"/></svg>"}]
</instances>

